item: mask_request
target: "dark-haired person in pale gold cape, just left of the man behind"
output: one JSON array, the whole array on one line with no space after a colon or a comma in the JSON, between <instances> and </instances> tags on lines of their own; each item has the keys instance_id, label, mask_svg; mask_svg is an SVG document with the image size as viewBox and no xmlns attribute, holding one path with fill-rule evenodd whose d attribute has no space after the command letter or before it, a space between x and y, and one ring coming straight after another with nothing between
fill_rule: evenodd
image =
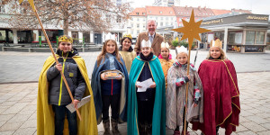
<instances>
[{"instance_id":1,"label":"dark-haired person in pale gold cape, just left of the man behind","mask_svg":"<svg viewBox=\"0 0 270 135\"><path fill-rule=\"evenodd\" d=\"M119 53L121 55L121 58L125 62L125 66L127 67L129 74L132 61L137 56L136 52L133 51L131 44L132 44L132 37L130 34L126 34L121 39L121 47L119 48Z\"/></svg>"}]
</instances>

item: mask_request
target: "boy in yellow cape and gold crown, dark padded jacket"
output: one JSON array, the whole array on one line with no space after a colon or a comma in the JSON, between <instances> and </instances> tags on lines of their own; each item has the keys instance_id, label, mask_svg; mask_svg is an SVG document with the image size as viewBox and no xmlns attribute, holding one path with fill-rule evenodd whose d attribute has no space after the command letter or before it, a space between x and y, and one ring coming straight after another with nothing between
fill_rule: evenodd
<instances>
[{"instance_id":1,"label":"boy in yellow cape and gold crown, dark padded jacket","mask_svg":"<svg viewBox=\"0 0 270 135\"><path fill-rule=\"evenodd\" d=\"M83 122L76 120L76 112L67 110L66 105L72 103L72 100L60 72L67 79L67 84L74 97L75 108L83 96L93 95L93 93L85 68L85 61L78 56L76 49L72 48L72 38L64 35L59 37L58 41L56 57L59 63L56 64L55 59L50 56L45 61L40 73L37 132L44 135L62 135L64 121L67 118L68 129L65 129L65 134L67 134L67 131L70 135L97 134L93 97L90 98L89 103L85 103L78 109L81 112Z\"/></svg>"}]
</instances>

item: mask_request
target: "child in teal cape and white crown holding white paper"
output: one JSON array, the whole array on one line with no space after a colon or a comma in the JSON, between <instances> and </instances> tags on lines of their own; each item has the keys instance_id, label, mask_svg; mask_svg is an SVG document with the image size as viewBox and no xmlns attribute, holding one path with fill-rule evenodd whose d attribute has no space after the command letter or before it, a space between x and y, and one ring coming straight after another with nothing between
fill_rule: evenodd
<instances>
[{"instance_id":1,"label":"child in teal cape and white crown holding white paper","mask_svg":"<svg viewBox=\"0 0 270 135\"><path fill-rule=\"evenodd\" d=\"M165 135L165 77L158 58L151 52L150 41L142 40L140 49L130 70L128 134ZM148 79L153 84L139 91L139 82Z\"/></svg>"}]
</instances>

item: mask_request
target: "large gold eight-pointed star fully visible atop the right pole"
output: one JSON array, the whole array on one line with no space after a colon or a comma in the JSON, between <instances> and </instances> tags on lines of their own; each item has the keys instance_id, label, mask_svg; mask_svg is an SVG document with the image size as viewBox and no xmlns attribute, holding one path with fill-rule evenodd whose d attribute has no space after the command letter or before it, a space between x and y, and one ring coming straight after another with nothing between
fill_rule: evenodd
<instances>
[{"instance_id":1,"label":"large gold eight-pointed star fully visible atop the right pole","mask_svg":"<svg viewBox=\"0 0 270 135\"><path fill-rule=\"evenodd\" d=\"M184 27L173 29L172 31L178 31L178 32L184 33L184 35L181 38L181 40L184 40L186 38L188 39L189 49L191 49L191 46L192 46L192 43L193 43L193 39L196 39L196 40L200 40L201 41L201 38L199 36L199 33L210 31L210 30L206 30L206 29L200 28L200 25L202 23L202 20L199 21L199 22L197 22L197 23L195 23L193 12L191 14L189 23L186 22L186 21L184 21L184 19L182 19L182 22L184 24Z\"/></svg>"}]
</instances>

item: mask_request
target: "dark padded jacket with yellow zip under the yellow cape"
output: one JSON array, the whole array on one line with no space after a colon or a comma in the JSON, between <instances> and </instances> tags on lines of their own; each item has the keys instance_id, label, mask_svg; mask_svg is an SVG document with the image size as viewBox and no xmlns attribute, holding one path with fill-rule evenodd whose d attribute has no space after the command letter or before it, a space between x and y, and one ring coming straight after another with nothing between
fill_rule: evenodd
<instances>
[{"instance_id":1,"label":"dark padded jacket with yellow zip under the yellow cape","mask_svg":"<svg viewBox=\"0 0 270 135\"><path fill-rule=\"evenodd\" d=\"M67 53L67 58L62 57L62 51L57 50L60 56L58 62L64 67L64 76L67 79L67 84L70 88L74 99L81 100L85 93L85 80L81 75L75 60L72 58L78 55L76 49ZM71 103L71 98L67 92L67 87L62 80L61 74L53 64L47 71L47 78L49 81L49 104L64 105Z\"/></svg>"}]
</instances>

